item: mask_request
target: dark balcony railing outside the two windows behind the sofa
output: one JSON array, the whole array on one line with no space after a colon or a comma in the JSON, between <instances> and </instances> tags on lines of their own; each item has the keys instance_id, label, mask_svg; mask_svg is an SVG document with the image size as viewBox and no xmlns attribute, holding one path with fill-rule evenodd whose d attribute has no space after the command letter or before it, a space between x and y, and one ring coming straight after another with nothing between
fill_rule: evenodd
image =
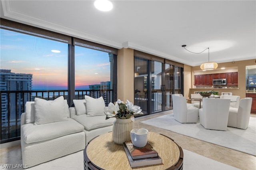
<instances>
[{"instance_id":1,"label":"dark balcony railing outside the two windows behind the sofa","mask_svg":"<svg viewBox=\"0 0 256 170\"><path fill-rule=\"evenodd\" d=\"M74 99L84 99L85 95L93 98L102 96L107 106L112 102L112 91L110 89L75 90ZM0 91L0 143L20 139L20 115L25 112L27 101L34 101L35 97L54 100L59 96L68 100L68 90Z\"/></svg>"}]
</instances>

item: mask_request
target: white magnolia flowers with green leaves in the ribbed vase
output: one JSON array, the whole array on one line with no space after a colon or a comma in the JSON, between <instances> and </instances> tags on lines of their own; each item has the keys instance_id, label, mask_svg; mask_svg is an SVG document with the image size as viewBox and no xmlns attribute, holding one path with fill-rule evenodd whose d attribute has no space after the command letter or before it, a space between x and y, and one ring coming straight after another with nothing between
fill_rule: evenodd
<instances>
[{"instance_id":1,"label":"white magnolia flowers with green leaves in the ribbed vase","mask_svg":"<svg viewBox=\"0 0 256 170\"><path fill-rule=\"evenodd\" d=\"M108 107L104 107L106 120L110 117L117 119L129 119L134 115L143 115L139 106L133 105L130 101L126 100L126 104L118 99L114 104L110 102Z\"/></svg>"}]
</instances>

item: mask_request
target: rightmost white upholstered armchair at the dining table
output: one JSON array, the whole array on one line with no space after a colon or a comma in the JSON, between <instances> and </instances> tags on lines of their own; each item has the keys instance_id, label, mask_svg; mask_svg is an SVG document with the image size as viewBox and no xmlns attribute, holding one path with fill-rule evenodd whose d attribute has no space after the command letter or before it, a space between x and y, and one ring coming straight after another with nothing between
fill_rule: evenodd
<instances>
[{"instance_id":1,"label":"rightmost white upholstered armchair at the dining table","mask_svg":"<svg viewBox=\"0 0 256 170\"><path fill-rule=\"evenodd\" d=\"M238 109L230 107L228 115L228 126L246 129L249 124L251 107L252 97L241 99Z\"/></svg>"}]
</instances>

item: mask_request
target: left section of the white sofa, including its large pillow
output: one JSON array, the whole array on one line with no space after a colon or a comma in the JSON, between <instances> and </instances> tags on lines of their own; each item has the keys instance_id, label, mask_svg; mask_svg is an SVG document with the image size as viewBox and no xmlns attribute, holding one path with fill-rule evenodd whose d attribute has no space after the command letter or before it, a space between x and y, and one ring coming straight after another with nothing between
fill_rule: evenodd
<instances>
[{"instance_id":1,"label":"left section of the white sofa, including its large pillow","mask_svg":"<svg viewBox=\"0 0 256 170\"><path fill-rule=\"evenodd\" d=\"M28 167L85 148L84 127L70 118L67 101L63 97L57 99L55 102L45 102L44 99L40 99L39 102L36 99L35 102L26 102L26 112L22 113L20 121L20 143L22 164ZM47 105L51 102L54 104ZM63 105L59 105L61 102ZM54 113L51 113L50 109ZM38 115L41 113L42 115Z\"/></svg>"}]
</instances>

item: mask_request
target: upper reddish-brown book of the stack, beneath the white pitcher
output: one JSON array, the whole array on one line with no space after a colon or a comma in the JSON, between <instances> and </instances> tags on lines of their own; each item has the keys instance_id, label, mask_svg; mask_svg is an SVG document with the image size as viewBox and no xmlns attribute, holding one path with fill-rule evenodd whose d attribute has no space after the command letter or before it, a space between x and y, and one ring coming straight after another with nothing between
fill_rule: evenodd
<instances>
[{"instance_id":1,"label":"upper reddish-brown book of the stack, beneath the white pitcher","mask_svg":"<svg viewBox=\"0 0 256 170\"><path fill-rule=\"evenodd\" d=\"M132 141L125 142L126 147L129 150L132 159L150 158L158 156L158 153L154 148L147 143L143 148L138 148L132 144Z\"/></svg>"}]
</instances>

